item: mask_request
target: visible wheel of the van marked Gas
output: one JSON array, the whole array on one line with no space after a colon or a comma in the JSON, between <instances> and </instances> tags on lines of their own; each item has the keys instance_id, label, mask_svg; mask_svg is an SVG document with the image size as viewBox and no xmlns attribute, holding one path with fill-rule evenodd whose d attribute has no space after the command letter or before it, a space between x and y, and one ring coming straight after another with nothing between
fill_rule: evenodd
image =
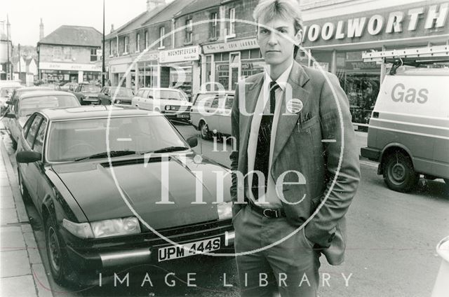
<instances>
[{"instance_id":1,"label":"visible wheel of the van marked Gas","mask_svg":"<svg viewBox=\"0 0 449 297\"><path fill-rule=\"evenodd\" d=\"M408 156L396 151L387 157L384 165L384 181L391 190L409 192L419 179L420 174L413 170L412 161Z\"/></svg>"}]
</instances>

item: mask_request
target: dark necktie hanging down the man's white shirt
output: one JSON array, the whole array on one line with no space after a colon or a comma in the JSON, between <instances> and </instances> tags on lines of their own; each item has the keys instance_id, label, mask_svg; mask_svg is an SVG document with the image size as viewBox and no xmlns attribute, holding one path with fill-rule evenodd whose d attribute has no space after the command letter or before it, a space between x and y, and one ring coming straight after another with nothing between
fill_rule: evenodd
<instances>
[{"instance_id":1,"label":"dark necktie hanging down the man's white shirt","mask_svg":"<svg viewBox=\"0 0 449 297\"><path fill-rule=\"evenodd\" d=\"M254 198L259 198L259 188L263 189L263 193L267 191L268 181L268 163L269 163L269 146L272 137L272 125L274 117L274 108L276 106L276 90L279 85L272 81L269 83L269 115L263 115L260 120L259 135L257 137L257 148L254 160L254 171L260 171L264 175L265 183L260 184L257 174L253 174L252 191Z\"/></svg>"}]
</instances>

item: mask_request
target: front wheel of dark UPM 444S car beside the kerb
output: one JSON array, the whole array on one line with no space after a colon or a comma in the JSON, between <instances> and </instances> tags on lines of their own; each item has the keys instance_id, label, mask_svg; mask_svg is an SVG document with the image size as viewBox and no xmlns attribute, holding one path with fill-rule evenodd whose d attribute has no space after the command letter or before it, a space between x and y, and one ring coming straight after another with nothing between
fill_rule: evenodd
<instances>
[{"instance_id":1,"label":"front wheel of dark UPM 444S car beside the kerb","mask_svg":"<svg viewBox=\"0 0 449 297\"><path fill-rule=\"evenodd\" d=\"M48 263L50 265L51 275L55 282L60 285L67 285L67 253L65 244L58 234L55 223L50 215L47 216L45 222L46 249Z\"/></svg>"}]
</instances>

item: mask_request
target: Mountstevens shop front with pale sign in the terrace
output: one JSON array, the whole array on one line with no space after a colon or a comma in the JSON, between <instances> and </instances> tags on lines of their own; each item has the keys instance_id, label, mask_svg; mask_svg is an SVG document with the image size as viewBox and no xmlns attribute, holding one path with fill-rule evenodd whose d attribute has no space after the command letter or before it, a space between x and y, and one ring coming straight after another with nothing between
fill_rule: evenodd
<instances>
[{"instance_id":1,"label":"Mountstevens shop front with pale sign in the terrace","mask_svg":"<svg viewBox=\"0 0 449 297\"><path fill-rule=\"evenodd\" d=\"M183 90L189 100L200 88L199 60L201 48L188 46L159 52L159 85Z\"/></svg>"}]
</instances>

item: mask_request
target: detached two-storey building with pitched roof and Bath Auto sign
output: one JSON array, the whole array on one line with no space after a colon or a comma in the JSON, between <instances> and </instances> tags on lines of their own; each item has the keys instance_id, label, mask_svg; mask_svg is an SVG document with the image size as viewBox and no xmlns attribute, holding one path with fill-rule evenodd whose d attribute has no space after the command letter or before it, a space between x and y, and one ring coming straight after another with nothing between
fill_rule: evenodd
<instances>
[{"instance_id":1,"label":"detached two-storey building with pitched roof and Bath Auto sign","mask_svg":"<svg viewBox=\"0 0 449 297\"><path fill-rule=\"evenodd\" d=\"M44 83L101 80L102 34L93 27L63 25L37 43L39 80Z\"/></svg>"}]
</instances>

